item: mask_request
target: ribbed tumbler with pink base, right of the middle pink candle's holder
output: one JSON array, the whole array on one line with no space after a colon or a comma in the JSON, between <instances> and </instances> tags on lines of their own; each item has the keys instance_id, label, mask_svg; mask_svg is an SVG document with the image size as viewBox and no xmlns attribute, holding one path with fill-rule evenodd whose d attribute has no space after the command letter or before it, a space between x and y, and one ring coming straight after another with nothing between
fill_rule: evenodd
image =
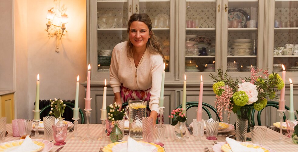
<instances>
[{"instance_id":1,"label":"ribbed tumbler with pink base, right of the middle pink candle's holder","mask_svg":"<svg viewBox=\"0 0 298 152\"><path fill-rule=\"evenodd\" d=\"M219 121L206 120L205 123L206 123L206 133L207 133L206 139L217 140L216 136L218 133Z\"/></svg>"}]
</instances>

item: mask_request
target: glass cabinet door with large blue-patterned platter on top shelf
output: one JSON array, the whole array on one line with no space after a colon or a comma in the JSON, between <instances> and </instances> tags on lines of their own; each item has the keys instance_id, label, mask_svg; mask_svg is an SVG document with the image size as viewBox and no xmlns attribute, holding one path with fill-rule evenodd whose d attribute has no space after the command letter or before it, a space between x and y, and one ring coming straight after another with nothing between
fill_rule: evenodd
<instances>
[{"instance_id":1,"label":"glass cabinet door with large blue-patterned platter on top shelf","mask_svg":"<svg viewBox=\"0 0 298 152\"><path fill-rule=\"evenodd\" d=\"M227 7L227 71L250 72L257 67L258 0L229 0Z\"/></svg>"}]
</instances>

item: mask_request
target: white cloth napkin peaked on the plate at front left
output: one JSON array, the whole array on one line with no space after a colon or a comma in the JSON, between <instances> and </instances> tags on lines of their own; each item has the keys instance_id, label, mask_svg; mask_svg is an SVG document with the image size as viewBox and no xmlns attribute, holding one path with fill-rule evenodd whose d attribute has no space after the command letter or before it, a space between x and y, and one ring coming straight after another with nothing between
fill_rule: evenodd
<instances>
[{"instance_id":1,"label":"white cloth napkin peaked on the plate at front left","mask_svg":"<svg viewBox=\"0 0 298 152\"><path fill-rule=\"evenodd\" d=\"M29 136L26 136L25 140L23 141L23 143L20 146L16 147L15 149L12 149L10 151L12 151L12 152L27 152L27 151L37 150L41 147L42 146L38 146L35 143L33 143Z\"/></svg>"}]
</instances>

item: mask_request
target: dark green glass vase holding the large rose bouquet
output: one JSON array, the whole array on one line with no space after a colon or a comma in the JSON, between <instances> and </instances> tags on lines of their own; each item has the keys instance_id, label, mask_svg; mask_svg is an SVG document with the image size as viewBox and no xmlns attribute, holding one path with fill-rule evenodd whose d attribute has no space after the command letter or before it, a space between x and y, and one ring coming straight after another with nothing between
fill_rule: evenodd
<instances>
[{"instance_id":1,"label":"dark green glass vase holding the large rose bouquet","mask_svg":"<svg viewBox=\"0 0 298 152\"><path fill-rule=\"evenodd\" d=\"M252 124L253 122L251 121L252 109L254 109L253 105L244 105L239 110L237 110L237 118L238 119L247 119L248 120L248 125L247 125L248 133L250 132L249 128L254 126ZM236 123L234 125L234 128L236 130Z\"/></svg>"}]
</instances>

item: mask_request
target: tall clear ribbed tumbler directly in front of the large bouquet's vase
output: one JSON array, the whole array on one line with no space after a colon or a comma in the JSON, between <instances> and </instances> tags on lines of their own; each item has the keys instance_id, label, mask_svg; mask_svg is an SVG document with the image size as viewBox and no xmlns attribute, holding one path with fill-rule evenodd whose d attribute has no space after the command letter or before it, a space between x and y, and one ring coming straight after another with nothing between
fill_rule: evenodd
<instances>
[{"instance_id":1,"label":"tall clear ribbed tumbler directly in front of the large bouquet's vase","mask_svg":"<svg viewBox=\"0 0 298 152\"><path fill-rule=\"evenodd\" d=\"M236 140L245 142L247 133L247 119L236 119Z\"/></svg>"}]
</instances>

